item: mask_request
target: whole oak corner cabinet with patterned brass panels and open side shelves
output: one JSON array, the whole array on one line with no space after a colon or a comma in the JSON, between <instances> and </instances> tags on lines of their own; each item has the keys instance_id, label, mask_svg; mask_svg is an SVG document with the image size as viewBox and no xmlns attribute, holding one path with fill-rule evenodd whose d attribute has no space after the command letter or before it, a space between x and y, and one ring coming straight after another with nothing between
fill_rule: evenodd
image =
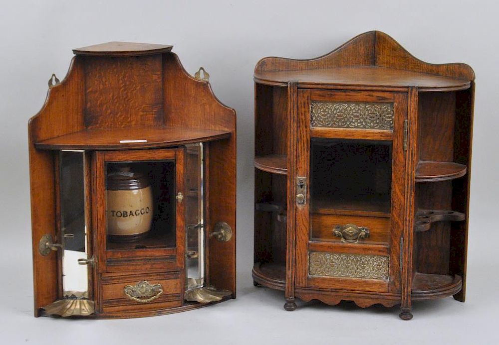
<instances>
[{"instance_id":1,"label":"whole oak corner cabinet with patterned brass panels and open side shelves","mask_svg":"<svg viewBox=\"0 0 499 345\"><path fill-rule=\"evenodd\" d=\"M465 300L475 75L379 31L255 67L255 285L360 307Z\"/></svg>"}]
</instances>

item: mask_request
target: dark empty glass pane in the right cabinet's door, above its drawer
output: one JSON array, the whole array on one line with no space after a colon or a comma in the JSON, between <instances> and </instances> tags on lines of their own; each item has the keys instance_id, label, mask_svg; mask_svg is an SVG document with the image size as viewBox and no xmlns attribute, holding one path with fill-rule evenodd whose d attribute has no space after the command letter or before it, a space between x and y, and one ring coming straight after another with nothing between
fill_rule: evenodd
<instances>
[{"instance_id":1,"label":"dark empty glass pane in the right cabinet's door, above its drawer","mask_svg":"<svg viewBox=\"0 0 499 345\"><path fill-rule=\"evenodd\" d=\"M312 214L389 217L391 165L390 141L312 137Z\"/></svg>"}]
</instances>

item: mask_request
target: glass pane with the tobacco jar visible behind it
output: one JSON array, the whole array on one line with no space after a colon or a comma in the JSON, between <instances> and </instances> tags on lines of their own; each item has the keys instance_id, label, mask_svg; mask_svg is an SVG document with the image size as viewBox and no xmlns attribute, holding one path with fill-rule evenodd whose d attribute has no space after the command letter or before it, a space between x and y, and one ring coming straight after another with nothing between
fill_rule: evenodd
<instances>
[{"instance_id":1,"label":"glass pane with the tobacco jar visible behind it","mask_svg":"<svg viewBox=\"0 0 499 345\"><path fill-rule=\"evenodd\" d=\"M107 162L107 250L176 246L175 160Z\"/></svg>"}]
</instances>

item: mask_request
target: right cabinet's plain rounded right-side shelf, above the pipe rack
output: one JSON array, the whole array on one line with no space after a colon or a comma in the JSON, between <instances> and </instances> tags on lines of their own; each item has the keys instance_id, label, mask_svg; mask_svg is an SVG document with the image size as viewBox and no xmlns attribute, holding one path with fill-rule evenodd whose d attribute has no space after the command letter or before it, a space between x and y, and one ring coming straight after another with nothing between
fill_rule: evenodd
<instances>
[{"instance_id":1,"label":"right cabinet's plain rounded right-side shelf, above the pipe rack","mask_svg":"<svg viewBox=\"0 0 499 345\"><path fill-rule=\"evenodd\" d=\"M453 162L420 161L416 167L416 182L439 182L466 175L466 165Z\"/></svg>"}]
</instances>

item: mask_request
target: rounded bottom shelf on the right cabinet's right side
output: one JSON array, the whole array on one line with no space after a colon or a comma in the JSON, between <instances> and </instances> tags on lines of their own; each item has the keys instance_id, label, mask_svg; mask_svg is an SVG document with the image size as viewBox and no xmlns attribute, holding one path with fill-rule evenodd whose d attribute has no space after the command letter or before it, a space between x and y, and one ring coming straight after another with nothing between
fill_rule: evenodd
<instances>
[{"instance_id":1,"label":"rounded bottom shelf on the right cabinet's right side","mask_svg":"<svg viewBox=\"0 0 499 345\"><path fill-rule=\"evenodd\" d=\"M416 272L412 281L411 299L431 300L457 294L463 287L459 275L426 274Z\"/></svg>"}]
</instances>

